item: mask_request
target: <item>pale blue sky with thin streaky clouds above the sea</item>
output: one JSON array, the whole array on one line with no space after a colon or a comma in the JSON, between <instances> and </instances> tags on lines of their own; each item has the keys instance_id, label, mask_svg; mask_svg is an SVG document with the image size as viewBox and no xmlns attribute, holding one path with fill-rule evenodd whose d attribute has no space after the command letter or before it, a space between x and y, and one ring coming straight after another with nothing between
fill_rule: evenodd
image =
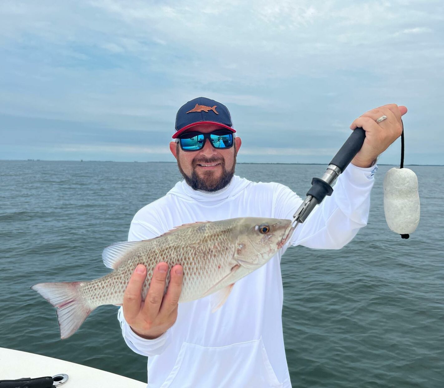
<instances>
[{"instance_id":1,"label":"pale blue sky with thin streaky clouds above the sea","mask_svg":"<svg viewBox=\"0 0 444 388\"><path fill-rule=\"evenodd\" d=\"M328 163L396 103L405 164L444 164L442 0L2 0L0 58L0 159L172 162L204 96L238 162ZM399 160L400 139L379 162Z\"/></svg>"}]
</instances>

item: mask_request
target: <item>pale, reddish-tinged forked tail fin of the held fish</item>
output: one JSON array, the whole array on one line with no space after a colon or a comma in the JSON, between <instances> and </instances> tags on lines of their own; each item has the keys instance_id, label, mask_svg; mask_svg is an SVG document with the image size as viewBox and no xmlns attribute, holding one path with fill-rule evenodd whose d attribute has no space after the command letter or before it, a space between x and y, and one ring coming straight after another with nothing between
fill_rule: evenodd
<instances>
[{"instance_id":1,"label":"pale, reddish-tinged forked tail fin of the held fish","mask_svg":"<svg viewBox=\"0 0 444 388\"><path fill-rule=\"evenodd\" d=\"M31 287L58 308L57 317L62 340L74 334L91 311L95 309L91 309L80 295L79 283L84 282L39 283Z\"/></svg>"}]
</instances>

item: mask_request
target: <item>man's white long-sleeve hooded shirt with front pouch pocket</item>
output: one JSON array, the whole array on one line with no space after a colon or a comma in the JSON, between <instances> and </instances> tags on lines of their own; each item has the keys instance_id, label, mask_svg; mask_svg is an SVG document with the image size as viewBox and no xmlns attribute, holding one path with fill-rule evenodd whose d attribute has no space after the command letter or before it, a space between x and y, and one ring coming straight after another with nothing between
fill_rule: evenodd
<instances>
[{"instance_id":1,"label":"man's white long-sleeve hooded shirt with front pouch pocket","mask_svg":"<svg viewBox=\"0 0 444 388\"><path fill-rule=\"evenodd\" d=\"M180 303L174 325L159 338L146 340L131 330L120 308L123 338L134 352L149 357L148 387L291 388L282 334L281 256L290 243L323 249L347 244L367 223L376 170L376 166L350 164L332 196L297 226L289 243L266 265L236 282L215 313L211 313L210 296ZM128 241L154 238L197 221L291 219L302 201L279 183L250 182L238 176L216 193L193 190L182 181L137 212Z\"/></svg>"}]
</instances>

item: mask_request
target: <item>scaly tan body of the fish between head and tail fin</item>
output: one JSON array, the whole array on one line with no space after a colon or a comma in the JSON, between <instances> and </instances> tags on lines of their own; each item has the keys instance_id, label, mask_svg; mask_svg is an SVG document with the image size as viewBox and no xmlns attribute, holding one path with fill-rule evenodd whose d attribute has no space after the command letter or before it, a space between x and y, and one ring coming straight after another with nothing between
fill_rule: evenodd
<instances>
[{"instance_id":1,"label":"scaly tan body of the fish between head and tail fin","mask_svg":"<svg viewBox=\"0 0 444 388\"><path fill-rule=\"evenodd\" d=\"M97 306L121 304L134 268L138 264L143 264L149 269L142 290L142 298L145 299L152 270L160 261L164 261L169 268L176 264L184 267L179 301L196 299L214 285L214 279L220 280L226 274L223 273L223 267L229 264L234 252L234 243L230 239L232 226L230 224L231 222L227 222L212 228L207 228L205 224L200 226L197 224L179 229L175 234L147 240L126 253L115 271L105 277L80 285L80 293ZM196 279L199 279L197 287L194 284ZM168 272L166 288L169 281L170 273ZM94 304L91 303L91 307L95 307Z\"/></svg>"}]
</instances>

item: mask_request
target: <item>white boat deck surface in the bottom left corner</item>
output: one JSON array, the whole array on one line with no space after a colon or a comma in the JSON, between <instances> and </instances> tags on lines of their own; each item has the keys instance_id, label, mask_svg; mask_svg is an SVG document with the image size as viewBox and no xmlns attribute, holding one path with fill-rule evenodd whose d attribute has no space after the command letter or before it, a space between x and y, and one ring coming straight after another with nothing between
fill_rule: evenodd
<instances>
[{"instance_id":1,"label":"white boat deck surface in the bottom left corner","mask_svg":"<svg viewBox=\"0 0 444 388\"><path fill-rule=\"evenodd\" d=\"M69 376L63 388L118 387L146 388L142 381L132 380L100 369L40 356L19 350L0 348L0 380L16 380L22 377Z\"/></svg>"}]
</instances>

